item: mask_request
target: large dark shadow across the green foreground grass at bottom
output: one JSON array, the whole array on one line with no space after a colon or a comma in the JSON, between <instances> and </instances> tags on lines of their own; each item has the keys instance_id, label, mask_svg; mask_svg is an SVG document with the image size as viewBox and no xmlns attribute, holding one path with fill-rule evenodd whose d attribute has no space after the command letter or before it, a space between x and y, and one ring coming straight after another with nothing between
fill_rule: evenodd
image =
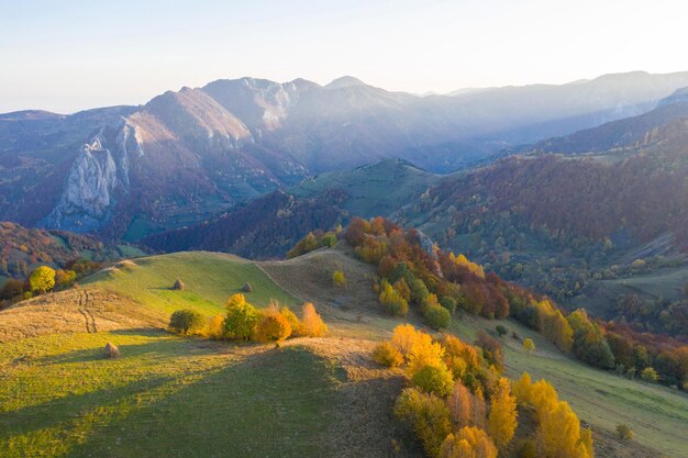
<instances>
[{"instance_id":1,"label":"large dark shadow across the green foreground grass at bottom","mask_svg":"<svg viewBox=\"0 0 688 458\"><path fill-rule=\"evenodd\" d=\"M93 427L69 455L324 456L335 369L298 347L254 354Z\"/></svg>"}]
</instances>

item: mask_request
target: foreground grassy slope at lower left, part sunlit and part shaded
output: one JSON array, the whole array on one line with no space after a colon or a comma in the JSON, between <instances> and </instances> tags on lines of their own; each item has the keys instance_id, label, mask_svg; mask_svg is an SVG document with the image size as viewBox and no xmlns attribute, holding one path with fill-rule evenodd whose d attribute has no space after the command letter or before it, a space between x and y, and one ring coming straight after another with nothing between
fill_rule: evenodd
<instances>
[{"instance_id":1,"label":"foreground grassy slope at lower left, part sunlit and part shaded","mask_svg":"<svg viewBox=\"0 0 688 458\"><path fill-rule=\"evenodd\" d=\"M107 342L124 357L102 359ZM303 347L231 349L159 332L3 345L0 373L4 458L323 456L343 400L337 367Z\"/></svg>"}]
</instances>

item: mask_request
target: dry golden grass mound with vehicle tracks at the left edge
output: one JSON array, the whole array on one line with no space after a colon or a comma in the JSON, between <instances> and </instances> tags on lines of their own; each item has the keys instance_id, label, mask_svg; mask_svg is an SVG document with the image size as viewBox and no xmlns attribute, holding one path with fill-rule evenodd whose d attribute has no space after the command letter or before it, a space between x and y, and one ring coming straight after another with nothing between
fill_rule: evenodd
<instances>
[{"instance_id":1,"label":"dry golden grass mound with vehicle tracks at the left edge","mask_svg":"<svg viewBox=\"0 0 688 458\"><path fill-rule=\"evenodd\" d=\"M0 343L44 334L97 333L165 326L165 317L136 302L92 288L75 288L19 302L0 312Z\"/></svg>"}]
</instances>

